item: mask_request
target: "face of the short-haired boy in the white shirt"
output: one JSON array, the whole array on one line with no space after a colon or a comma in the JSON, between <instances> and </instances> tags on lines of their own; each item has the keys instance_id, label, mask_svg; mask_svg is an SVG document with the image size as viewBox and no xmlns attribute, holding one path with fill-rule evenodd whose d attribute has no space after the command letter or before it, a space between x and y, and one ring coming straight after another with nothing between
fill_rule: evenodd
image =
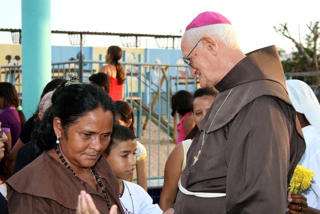
<instances>
[{"instance_id":1,"label":"face of the short-haired boy in the white shirt","mask_svg":"<svg viewBox=\"0 0 320 214\"><path fill-rule=\"evenodd\" d=\"M118 142L116 148L112 149L106 158L116 174L117 178L127 180L133 174L136 165L137 141L129 140Z\"/></svg>"}]
</instances>

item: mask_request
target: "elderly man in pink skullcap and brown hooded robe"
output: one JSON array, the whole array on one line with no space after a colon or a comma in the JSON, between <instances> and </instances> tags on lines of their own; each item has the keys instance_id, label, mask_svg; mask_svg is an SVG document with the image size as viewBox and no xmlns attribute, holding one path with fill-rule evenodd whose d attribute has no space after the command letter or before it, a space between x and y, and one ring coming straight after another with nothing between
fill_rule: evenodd
<instances>
[{"instance_id":1,"label":"elderly man in pink skullcap and brown hooded robe","mask_svg":"<svg viewBox=\"0 0 320 214\"><path fill-rule=\"evenodd\" d=\"M181 50L200 86L219 94L188 150L174 213L284 214L305 142L276 47L245 55L230 21L205 12Z\"/></svg>"}]
</instances>

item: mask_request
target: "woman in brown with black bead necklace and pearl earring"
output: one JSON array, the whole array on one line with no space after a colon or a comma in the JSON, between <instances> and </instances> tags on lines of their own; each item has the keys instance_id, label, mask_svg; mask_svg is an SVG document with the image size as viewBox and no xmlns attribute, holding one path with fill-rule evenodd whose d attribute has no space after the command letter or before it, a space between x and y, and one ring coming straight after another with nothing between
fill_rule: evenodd
<instances>
[{"instance_id":1,"label":"woman in brown with black bead necklace and pearl earring","mask_svg":"<svg viewBox=\"0 0 320 214\"><path fill-rule=\"evenodd\" d=\"M60 84L33 134L35 154L41 155L7 180L13 189L9 213L76 213L82 190L100 213L113 205L124 213L116 176L100 157L112 133L112 99L76 78Z\"/></svg>"}]
</instances>

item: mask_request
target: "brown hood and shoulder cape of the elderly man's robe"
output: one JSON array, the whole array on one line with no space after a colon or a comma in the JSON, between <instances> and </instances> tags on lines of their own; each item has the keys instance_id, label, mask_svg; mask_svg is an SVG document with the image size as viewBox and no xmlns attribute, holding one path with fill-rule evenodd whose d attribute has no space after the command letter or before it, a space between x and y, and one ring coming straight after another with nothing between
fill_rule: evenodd
<instances>
[{"instance_id":1,"label":"brown hood and shoulder cape of the elderly man's robe","mask_svg":"<svg viewBox=\"0 0 320 214\"><path fill-rule=\"evenodd\" d=\"M215 88L219 93L208 112L210 112L212 108L212 112L215 113L218 111L225 98L225 96L223 96L223 99L220 99L219 95L222 95L222 93L228 94L235 86L239 86L240 89L236 90L235 88L235 90L232 91L230 97L223 105L223 108L220 109L214 119L208 133L214 132L229 124L236 117L239 111L255 98L268 95L281 99L292 108L292 115L295 118L295 131L297 134L296 138L290 141L290 170L288 172L289 186L294 168L297 166L304 151L306 150L306 144L304 142L300 123L296 117L296 111L288 95L281 61L280 59L270 60L270 58L275 58L275 52L277 52L277 49L276 46L273 45L246 54L247 57L236 64L236 66L233 67L227 75L215 85ZM257 84L259 84L260 87L257 88L256 84L245 84L253 81L257 81ZM236 98L237 102L235 103L232 98ZM228 101L230 101L230 105L228 105ZM207 114L200 124L202 131L204 130L208 117L209 115ZM214 115L211 115L211 117L212 118L210 118L209 121L212 121Z\"/></svg>"}]
</instances>

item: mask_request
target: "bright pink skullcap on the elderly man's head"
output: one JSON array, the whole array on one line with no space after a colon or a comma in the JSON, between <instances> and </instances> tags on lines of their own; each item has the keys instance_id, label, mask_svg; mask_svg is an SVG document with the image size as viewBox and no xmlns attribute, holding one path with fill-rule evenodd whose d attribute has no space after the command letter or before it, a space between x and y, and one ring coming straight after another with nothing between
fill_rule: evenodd
<instances>
[{"instance_id":1,"label":"bright pink skullcap on the elderly man's head","mask_svg":"<svg viewBox=\"0 0 320 214\"><path fill-rule=\"evenodd\" d=\"M210 24L231 24L231 22L220 13L207 11L197 15L197 17L188 24L186 30Z\"/></svg>"}]
</instances>

